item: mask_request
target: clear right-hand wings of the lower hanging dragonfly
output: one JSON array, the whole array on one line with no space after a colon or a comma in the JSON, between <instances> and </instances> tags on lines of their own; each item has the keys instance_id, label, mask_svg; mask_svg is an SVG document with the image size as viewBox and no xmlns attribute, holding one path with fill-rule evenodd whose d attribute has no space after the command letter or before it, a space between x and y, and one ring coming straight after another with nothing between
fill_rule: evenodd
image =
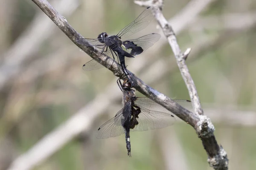
<instances>
[{"instance_id":1,"label":"clear right-hand wings of the lower hanging dragonfly","mask_svg":"<svg viewBox=\"0 0 256 170\"><path fill-rule=\"evenodd\" d=\"M178 102L189 103L187 100L161 100L161 102ZM140 107L141 113L138 115L138 125L131 129L131 131L144 131L151 129L158 129L173 125L175 117L172 113L163 106L157 104L146 97L137 98L134 104Z\"/></svg>"}]
</instances>

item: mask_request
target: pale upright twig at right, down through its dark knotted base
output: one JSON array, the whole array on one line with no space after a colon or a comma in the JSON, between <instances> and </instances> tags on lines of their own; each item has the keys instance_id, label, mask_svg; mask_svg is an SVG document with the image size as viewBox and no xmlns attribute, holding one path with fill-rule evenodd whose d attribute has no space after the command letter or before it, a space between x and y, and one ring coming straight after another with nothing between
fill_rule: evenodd
<instances>
[{"instance_id":1,"label":"pale upright twig at right, down through its dark knotted base","mask_svg":"<svg viewBox=\"0 0 256 170\"><path fill-rule=\"evenodd\" d=\"M152 11L154 13L157 22L159 23L160 27L163 29L163 33L165 34L173 53L175 54L175 58L177 60L177 65L180 69L181 75L183 80L189 90L189 96L192 101L192 105L194 108L194 115L196 115L199 119L194 119L193 126L198 133L198 137L202 140L204 149L208 154L208 162L211 167L214 167L216 170L225 170L228 166L228 159L227 153L223 149L222 146L219 146L215 136L213 134L215 127L212 125L211 120L204 116L203 109L201 107L201 103L195 88L195 83L191 75L189 74L189 69L186 66L185 60L191 51L188 48L184 53L181 52L180 47L177 43L177 39L175 33L172 29L172 26L168 23L162 13L162 0L152 0L150 6L154 6ZM204 1L205 2L205 1ZM148 2L147 2L148 5ZM191 116L193 117L193 116Z\"/></svg>"}]
</instances>

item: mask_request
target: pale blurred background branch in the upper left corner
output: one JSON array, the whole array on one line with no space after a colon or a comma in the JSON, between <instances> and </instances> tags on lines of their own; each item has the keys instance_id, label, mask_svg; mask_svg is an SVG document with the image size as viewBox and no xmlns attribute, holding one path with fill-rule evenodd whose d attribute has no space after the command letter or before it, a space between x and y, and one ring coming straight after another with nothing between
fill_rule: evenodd
<instances>
[{"instance_id":1,"label":"pale blurred background branch in the upper left corner","mask_svg":"<svg viewBox=\"0 0 256 170\"><path fill-rule=\"evenodd\" d=\"M78 0L55 0L52 2L58 11L70 16L79 6ZM26 60L36 57L34 55L40 49L41 44L47 40L55 31L55 25L45 16L45 14L38 13L33 21L26 28L26 31L19 36L12 46L3 55L2 64L0 66L0 88L15 75L20 73L20 66ZM22 49L22 50L20 50Z\"/></svg>"}]
</instances>

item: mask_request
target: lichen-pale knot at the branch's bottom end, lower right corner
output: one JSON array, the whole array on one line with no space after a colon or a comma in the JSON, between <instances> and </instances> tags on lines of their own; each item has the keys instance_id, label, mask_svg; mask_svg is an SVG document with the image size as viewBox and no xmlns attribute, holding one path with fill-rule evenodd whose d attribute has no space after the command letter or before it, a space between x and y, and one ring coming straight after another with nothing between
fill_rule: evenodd
<instances>
[{"instance_id":1,"label":"lichen-pale knot at the branch's bottom end, lower right corner","mask_svg":"<svg viewBox=\"0 0 256 170\"><path fill-rule=\"evenodd\" d=\"M208 157L207 161L211 167L215 170L227 170L228 169L228 159L227 152L220 145L218 154L214 157Z\"/></svg>"}]
</instances>

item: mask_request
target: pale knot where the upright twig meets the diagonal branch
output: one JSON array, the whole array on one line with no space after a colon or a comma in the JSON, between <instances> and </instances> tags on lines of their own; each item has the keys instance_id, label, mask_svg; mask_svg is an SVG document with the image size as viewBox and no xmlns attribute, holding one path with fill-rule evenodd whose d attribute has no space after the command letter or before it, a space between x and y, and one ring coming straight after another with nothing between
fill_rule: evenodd
<instances>
[{"instance_id":1,"label":"pale knot where the upright twig meets the diagonal branch","mask_svg":"<svg viewBox=\"0 0 256 170\"><path fill-rule=\"evenodd\" d=\"M214 130L215 130L215 127L213 126L211 120L207 116L201 115L197 123L197 130L196 130L198 133L198 137L209 138L213 136Z\"/></svg>"}]
</instances>

